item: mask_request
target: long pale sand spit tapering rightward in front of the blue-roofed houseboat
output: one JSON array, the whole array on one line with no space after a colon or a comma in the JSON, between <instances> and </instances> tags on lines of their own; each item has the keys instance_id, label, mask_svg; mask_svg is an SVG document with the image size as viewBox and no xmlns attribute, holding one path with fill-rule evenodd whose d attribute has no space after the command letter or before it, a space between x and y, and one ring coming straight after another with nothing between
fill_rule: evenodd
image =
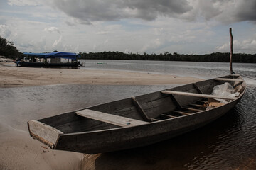
<instances>
[{"instance_id":1,"label":"long pale sand spit tapering rightward in front of the blue-roofed houseboat","mask_svg":"<svg viewBox=\"0 0 256 170\"><path fill-rule=\"evenodd\" d=\"M200 80L193 77L178 77L169 74L99 69L51 69L0 66L0 72L0 88L46 84L186 84Z\"/></svg>"}]
</instances>

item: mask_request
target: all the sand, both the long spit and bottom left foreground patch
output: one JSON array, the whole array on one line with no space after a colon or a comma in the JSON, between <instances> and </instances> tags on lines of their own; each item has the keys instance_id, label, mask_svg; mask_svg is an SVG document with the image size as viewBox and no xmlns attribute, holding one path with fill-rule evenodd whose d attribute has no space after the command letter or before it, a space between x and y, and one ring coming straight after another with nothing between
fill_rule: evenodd
<instances>
[{"instance_id":1,"label":"all the sand, both the long spit and bottom left foreground patch","mask_svg":"<svg viewBox=\"0 0 256 170\"><path fill-rule=\"evenodd\" d=\"M175 75L100 69L50 69L0 64L0 88L48 84L186 84L200 79ZM52 150L33 140L25 130L0 121L0 169L95 169L100 154ZM104 165L102 165L104 166ZM121 165L120 165L121 166Z\"/></svg>"}]
</instances>

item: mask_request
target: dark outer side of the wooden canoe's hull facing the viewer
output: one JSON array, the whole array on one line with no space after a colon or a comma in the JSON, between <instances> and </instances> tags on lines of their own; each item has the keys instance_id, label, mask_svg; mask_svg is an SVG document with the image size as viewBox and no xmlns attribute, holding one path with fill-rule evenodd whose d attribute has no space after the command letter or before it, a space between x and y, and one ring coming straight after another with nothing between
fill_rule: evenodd
<instances>
[{"instance_id":1,"label":"dark outer side of the wooden canoe's hull facing the viewer","mask_svg":"<svg viewBox=\"0 0 256 170\"><path fill-rule=\"evenodd\" d=\"M151 145L201 128L223 116L236 103L238 100L207 112L203 111L183 118L163 120L149 125L60 135L55 149L97 154Z\"/></svg>"}]
</instances>

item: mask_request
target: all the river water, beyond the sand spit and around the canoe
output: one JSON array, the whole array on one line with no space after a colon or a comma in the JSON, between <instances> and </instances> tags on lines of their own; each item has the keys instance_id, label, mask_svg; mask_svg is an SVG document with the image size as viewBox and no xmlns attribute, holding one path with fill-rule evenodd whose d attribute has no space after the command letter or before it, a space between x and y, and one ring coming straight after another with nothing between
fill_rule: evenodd
<instances>
[{"instance_id":1,"label":"all the river water, beyond the sand spit and around the canoe","mask_svg":"<svg viewBox=\"0 0 256 170\"><path fill-rule=\"evenodd\" d=\"M83 60L80 69L114 69L210 79L229 74L228 63ZM106 64L97 64L98 62ZM247 91L222 118L155 145L97 154L95 169L256 169L256 64L234 63ZM49 85L0 89L0 121L27 130L26 122L172 86ZM88 167L90 169L90 167Z\"/></svg>"}]
</instances>

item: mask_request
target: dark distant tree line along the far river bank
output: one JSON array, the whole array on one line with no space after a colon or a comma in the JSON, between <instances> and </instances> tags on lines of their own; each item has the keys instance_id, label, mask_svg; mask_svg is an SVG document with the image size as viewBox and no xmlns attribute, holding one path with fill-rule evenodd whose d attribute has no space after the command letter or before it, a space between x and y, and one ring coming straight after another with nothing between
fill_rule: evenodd
<instances>
[{"instance_id":1,"label":"dark distant tree line along the far river bank","mask_svg":"<svg viewBox=\"0 0 256 170\"><path fill-rule=\"evenodd\" d=\"M230 53L215 52L207 55L183 55L174 52L164 52L164 54L143 55L124 52L80 52L80 59L96 60L164 60L164 61L188 61L188 62L229 62ZM233 54L233 62L253 62L256 63L256 54Z\"/></svg>"}]
</instances>

